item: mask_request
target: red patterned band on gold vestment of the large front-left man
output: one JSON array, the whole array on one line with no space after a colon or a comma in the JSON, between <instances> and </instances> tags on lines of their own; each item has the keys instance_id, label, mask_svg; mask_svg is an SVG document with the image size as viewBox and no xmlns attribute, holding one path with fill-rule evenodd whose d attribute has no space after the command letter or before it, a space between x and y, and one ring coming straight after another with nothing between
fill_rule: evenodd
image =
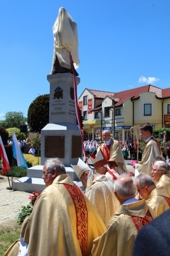
<instances>
[{"instance_id":1,"label":"red patterned band on gold vestment of the large front-left man","mask_svg":"<svg viewBox=\"0 0 170 256\"><path fill-rule=\"evenodd\" d=\"M78 186L63 184L69 192L76 211L76 229L79 246L81 248L82 256L86 256L87 240L88 240L88 210L84 196L79 191Z\"/></svg>"}]
</instances>

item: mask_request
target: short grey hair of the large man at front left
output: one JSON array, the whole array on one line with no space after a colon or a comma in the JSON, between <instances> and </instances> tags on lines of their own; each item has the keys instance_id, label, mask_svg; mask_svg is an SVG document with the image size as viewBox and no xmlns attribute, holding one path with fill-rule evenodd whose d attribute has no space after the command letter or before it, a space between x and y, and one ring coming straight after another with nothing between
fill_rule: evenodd
<instances>
[{"instance_id":1,"label":"short grey hair of the large man at front left","mask_svg":"<svg viewBox=\"0 0 170 256\"><path fill-rule=\"evenodd\" d=\"M49 158L45 161L47 171L56 169L57 173L66 173L65 166L59 161L59 158Z\"/></svg>"}]
</instances>

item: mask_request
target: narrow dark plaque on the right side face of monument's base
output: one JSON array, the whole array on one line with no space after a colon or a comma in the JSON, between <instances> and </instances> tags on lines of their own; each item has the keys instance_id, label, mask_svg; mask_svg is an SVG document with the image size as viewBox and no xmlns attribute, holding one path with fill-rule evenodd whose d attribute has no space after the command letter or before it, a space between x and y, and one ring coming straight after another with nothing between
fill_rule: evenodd
<instances>
[{"instance_id":1,"label":"narrow dark plaque on the right side face of monument's base","mask_svg":"<svg viewBox=\"0 0 170 256\"><path fill-rule=\"evenodd\" d=\"M81 136L72 136L72 158L82 157L82 138Z\"/></svg>"}]
</instances>

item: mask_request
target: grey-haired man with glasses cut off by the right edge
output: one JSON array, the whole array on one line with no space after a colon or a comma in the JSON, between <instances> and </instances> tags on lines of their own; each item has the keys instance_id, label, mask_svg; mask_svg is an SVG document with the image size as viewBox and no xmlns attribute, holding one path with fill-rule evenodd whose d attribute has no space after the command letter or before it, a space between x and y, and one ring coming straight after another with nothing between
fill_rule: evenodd
<instances>
[{"instance_id":1,"label":"grey-haired man with glasses cut off by the right edge","mask_svg":"<svg viewBox=\"0 0 170 256\"><path fill-rule=\"evenodd\" d=\"M169 164L164 161L156 161L152 166L152 179L156 184L156 188L163 188L167 196L170 198L170 173Z\"/></svg>"}]
</instances>

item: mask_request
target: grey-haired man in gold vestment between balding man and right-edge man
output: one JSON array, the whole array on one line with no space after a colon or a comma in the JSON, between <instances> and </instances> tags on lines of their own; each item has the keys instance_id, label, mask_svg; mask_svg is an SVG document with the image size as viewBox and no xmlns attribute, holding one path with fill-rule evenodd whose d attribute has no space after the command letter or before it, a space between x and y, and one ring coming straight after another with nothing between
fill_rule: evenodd
<instances>
[{"instance_id":1,"label":"grey-haired man in gold vestment between balding man and right-edge man","mask_svg":"<svg viewBox=\"0 0 170 256\"><path fill-rule=\"evenodd\" d=\"M145 198L147 205L152 208L156 217L169 210L170 198L166 194L165 189L156 188L149 175L140 173L136 177L136 187L140 195Z\"/></svg>"}]
</instances>

